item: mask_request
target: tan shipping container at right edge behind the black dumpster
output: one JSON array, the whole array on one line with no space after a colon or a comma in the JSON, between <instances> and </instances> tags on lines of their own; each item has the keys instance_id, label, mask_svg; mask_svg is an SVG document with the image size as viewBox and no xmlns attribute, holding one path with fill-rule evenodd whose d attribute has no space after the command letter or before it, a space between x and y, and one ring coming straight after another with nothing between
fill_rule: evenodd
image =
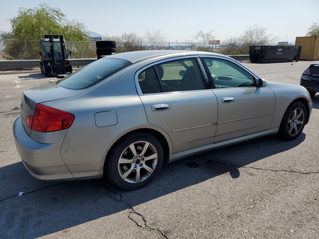
<instances>
[{"instance_id":1,"label":"tan shipping container at right edge behind the black dumpster","mask_svg":"<svg viewBox=\"0 0 319 239\"><path fill-rule=\"evenodd\" d=\"M296 37L295 44L302 46L300 60L319 60L319 36Z\"/></svg>"}]
</instances>

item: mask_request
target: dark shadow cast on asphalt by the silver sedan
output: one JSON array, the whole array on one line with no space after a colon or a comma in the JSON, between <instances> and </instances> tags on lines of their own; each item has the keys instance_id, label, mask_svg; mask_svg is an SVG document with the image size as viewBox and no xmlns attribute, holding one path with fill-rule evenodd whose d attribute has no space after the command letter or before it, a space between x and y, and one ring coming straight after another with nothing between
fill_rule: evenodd
<instances>
[{"instance_id":1,"label":"dark shadow cast on asphalt by the silver sedan","mask_svg":"<svg viewBox=\"0 0 319 239\"><path fill-rule=\"evenodd\" d=\"M67 233L73 226L120 213L152 199L229 173L296 147L275 135L242 142L163 165L159 176L136 191L125 191L102 180L46 182L33 178L21 162L0 168L0 238L35 238ZM19 192L24 194L19 197ZM111 219L110 219L111 220ZM66 234L67 236L67 234Z\"/></svg>"}]
</instances>

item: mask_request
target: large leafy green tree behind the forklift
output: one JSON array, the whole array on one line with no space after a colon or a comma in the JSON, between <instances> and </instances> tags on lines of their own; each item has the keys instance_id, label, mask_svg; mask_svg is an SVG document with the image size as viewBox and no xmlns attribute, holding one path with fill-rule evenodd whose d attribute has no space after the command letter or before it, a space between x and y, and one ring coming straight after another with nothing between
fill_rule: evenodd
<instances>
[{"instance_id":1,"label":"large leafy green tree behind the forklift","mask_svg":"<svg viewBox=\"0 0 319 239\"><path fill-rule=\"evenodd\" d=\"M10 19L11 31L1 34L4 56L8 60L38 59L40 51L39 40L44 34L63 35L66 41L87 41L88 30L83 23L77 20L67 20L59 8L39 4L38 7L19 8L18 16ZM37 41L18 41L37 40ZM73 50L92 52L92 44L82 43ZM95 52L95 49L94 51ZM90 54L91 55L91 54Z\"/></svg>"}]
</instances>

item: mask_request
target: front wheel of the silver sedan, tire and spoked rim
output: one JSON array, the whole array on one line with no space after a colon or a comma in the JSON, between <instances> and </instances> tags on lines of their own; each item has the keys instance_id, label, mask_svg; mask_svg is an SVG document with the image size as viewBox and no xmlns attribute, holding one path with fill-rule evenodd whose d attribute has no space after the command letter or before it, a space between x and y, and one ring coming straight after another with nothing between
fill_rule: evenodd
<instances>
[{"instance_id":1,"label":"front wheel of the silver sedan, tire and spoked rim","mask_svg":"<svg viewBox=\"0 0 319 239\"><path fill-rule=\"evenodd\" d=\"M301 112L301 110L303 111L303 115L301 114L298 117L298 114ZM305 127L306 120L307 120L306 106L299 101L295 101L291 103L288 106L281 120L281 124L278 131L279 138L282 140L296 139L301 134L303 128ZM294 124L294 122L296 122L296 124ZM299 122L302 122L302 123L299 124Z\"/></svg>"}]
</instances>

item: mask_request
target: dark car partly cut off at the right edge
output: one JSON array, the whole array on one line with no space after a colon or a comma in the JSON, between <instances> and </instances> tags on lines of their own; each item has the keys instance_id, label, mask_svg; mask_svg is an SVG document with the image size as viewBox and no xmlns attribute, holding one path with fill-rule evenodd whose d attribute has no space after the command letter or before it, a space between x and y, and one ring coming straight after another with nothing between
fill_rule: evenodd
<instances>
[{"instance_id":1,"label":"dark car partly cut off at the right edge","mask_svg":"<svg viewBox=\"0 0 319 239\"><path fill-rule=\"evenodd\" d=\"M309 91L311 97L319 92L319 62L311 64L302 72L300 85Z\"/></svg>"}]
</instances>

